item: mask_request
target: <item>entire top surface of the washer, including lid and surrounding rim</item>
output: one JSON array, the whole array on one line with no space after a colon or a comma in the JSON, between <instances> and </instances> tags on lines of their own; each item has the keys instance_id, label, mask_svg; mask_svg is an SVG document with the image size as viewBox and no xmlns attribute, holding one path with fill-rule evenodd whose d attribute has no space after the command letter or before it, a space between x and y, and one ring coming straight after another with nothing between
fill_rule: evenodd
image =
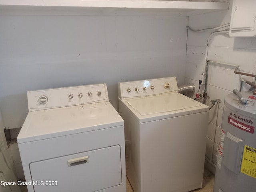
<instances>
[{"instance_id":1,"label":"entire top surface of the washer, including lid and surrounding rim","mask_svg":"<svg viewBox=\"0 0 256 192\"><path fill-rule=\"evenodd\" d=\"M209 106L180 93L121 100L139 123L208 112Z\"/></svg>"}]
</instances>

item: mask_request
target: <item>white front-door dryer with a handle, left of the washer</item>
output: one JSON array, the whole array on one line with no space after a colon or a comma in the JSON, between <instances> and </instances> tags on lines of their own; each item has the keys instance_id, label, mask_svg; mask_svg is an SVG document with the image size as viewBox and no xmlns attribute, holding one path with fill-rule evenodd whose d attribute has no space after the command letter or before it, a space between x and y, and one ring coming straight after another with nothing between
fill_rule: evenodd
<instances>
[{"instance_id":1,"label":"white front-door dryer with a handle, left of the washer","mask_svg":"<svg viewBox=\"0 0 256 192\"><path fill-rule=\"evenodd\" d=\"M18 147L28 192L126 192L124 121L106 84L28 92Z\"/></svg>"}]
</instances>

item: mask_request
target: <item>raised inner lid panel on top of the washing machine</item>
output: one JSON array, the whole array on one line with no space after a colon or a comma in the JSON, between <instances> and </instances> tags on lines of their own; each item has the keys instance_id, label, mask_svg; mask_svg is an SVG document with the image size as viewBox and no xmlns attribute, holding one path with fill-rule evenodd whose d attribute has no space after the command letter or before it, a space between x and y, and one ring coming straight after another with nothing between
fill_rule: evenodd
<instances>
[{"instance_id":1,"label":"raised inner lid panel on top of the washing machine","mask_svg":"<svg viewBox=\"0 0 256 192\"><path fill-rule=\"evenodd\" d=\"M138 98L127 102L140 115L172 112L200 106L198 102L178 93Z\"/></svg>"}]
</instances>

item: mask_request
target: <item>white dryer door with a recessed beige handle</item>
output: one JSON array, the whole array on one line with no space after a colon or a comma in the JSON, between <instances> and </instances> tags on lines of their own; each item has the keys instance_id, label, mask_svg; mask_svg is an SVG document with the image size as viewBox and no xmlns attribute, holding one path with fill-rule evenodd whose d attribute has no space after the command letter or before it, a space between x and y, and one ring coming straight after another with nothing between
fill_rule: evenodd
<instances>
[{"instance_id":1,"label":"white dryer door with a recessed beige handle","mask_svg":"<svg viewBox=\"0 0 256 192\"><path fill-rule=\"evenodd\" d=\"M122 183L120 146L30 164L35 192L94 192Z\"/></svg>"}]
</instances>

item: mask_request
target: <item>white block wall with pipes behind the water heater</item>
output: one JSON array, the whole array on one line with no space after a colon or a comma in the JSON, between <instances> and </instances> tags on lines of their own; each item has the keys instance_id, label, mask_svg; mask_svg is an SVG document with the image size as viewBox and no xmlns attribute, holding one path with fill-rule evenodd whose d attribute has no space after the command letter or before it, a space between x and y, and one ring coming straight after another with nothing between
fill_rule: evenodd
<instances>
[{"instance_id":1,"label":"white block wall with pipes behind the water heater","mask_svg":"<svg viewBox=\"0 0 256 192\"><path fill-rule=\"evenodd\" d=\"M230 1L232 7L232 1ZM216 27L230 23L231 9L228 11L215 12L197 16L190 16L188 25L196 30ZM214 18L214 19L213 19ZM198 90L200 74L204 72L206 58L206 41L213 31L191 32L188 31L187 57L186 57L186 82L194 83ZM227 34L216 34L210 38L207 60L224 62L239 66L243 72L256 73L256 38L230 38ZM216 164L216 149L218 147L221 129L224 97L233 92L233 89L240 88L241 75L234 74L234 67L209 64L209 77L207 86L207 104L211 106L210 100L220 99L222 102L210 110L208 136L206 146L206 157L210 158L212 148L213 156L211 162ZM244 76L246 80L253 81L253 78ZM243 90L250 86L243 84ZM204 92L201 86L199 93ZM218 108L218 109L217 109ZM217 119L216 119L217 118ZM215 129L216 128L216 132Z\"/></svg>"}]
</instances>

